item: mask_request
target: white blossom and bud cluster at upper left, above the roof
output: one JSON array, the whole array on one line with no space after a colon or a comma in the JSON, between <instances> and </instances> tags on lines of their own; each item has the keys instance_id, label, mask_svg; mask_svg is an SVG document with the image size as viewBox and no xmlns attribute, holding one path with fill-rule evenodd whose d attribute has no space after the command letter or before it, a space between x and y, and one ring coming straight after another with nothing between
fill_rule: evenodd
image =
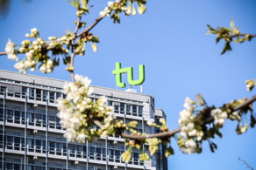
<instances>
[{"instance_id":1,"label":"white blossom and bud cluster at upper left, above the roof","mask_svg":"<svg viewBox=\"0 0 256 170\"><path fill-rule=\"evenodd\" d=\"M26 33L25 37L34 38L31 40L24 40L21 42L21 46L16 48L16 44L11 42L9 39L6 44L5 51L8 58L15 60L17 63L14 65L18 71L26 73L27 69L30 71L36 70L36 65L39 63L39 71L43 73L50 73L53 71L54 66L59 65L59 59L55 58L54 55L64 54L63 61L69 61L68 49L70 48L72 40L75 35L68 31L67 35L60 38L48 37L49 41L45 41L39 36L39 31L36 28L31 30L31 33ZM67 49L63 48L63 45L67 45ZM52 51L53 59L48 55L48 52ZM25 54L25 58L18 62L18 53Z\"/></svg>"}]
</instances>

